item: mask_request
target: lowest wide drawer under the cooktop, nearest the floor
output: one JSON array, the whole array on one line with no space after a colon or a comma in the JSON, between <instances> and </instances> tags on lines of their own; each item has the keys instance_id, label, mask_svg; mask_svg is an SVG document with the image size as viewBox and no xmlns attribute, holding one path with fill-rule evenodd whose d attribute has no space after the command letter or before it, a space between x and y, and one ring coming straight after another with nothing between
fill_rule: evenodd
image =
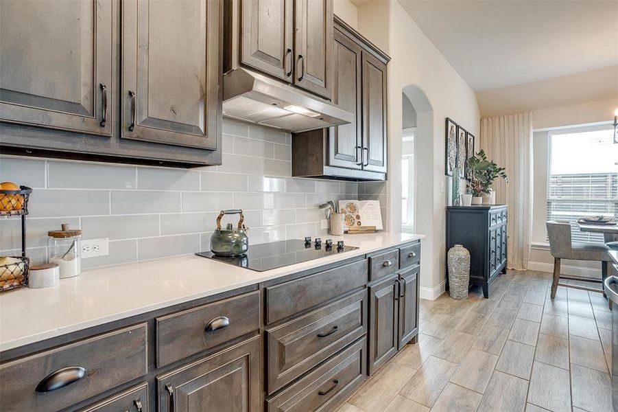
<instances>
[{"instance_id":1,"label":"lowest wide drawer under the cooktop, nearest the floor","mask_svg":"<svg viewBox=\"0 0 618 412\"><path fill-rule=\"evenodd\" d=\"M331 411L365 378L365 339L267 400L268 412Z\"/></svg>"}]
</instances>

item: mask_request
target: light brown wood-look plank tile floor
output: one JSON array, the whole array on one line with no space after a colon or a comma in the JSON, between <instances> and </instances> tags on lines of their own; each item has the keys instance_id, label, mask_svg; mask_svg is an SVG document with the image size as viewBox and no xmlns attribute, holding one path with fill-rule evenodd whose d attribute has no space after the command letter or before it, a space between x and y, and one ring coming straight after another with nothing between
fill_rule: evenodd
<instances>
[{"instance_id":1,"label":"light brown wood-look plank tile floor","mask_svg":"<svg viewBox=\"0 0 618 412\"><path fill-rule=\"evenodd\" d=\"M611 412L611 312L600 293L508 271L484 299L420 301L406 345L339 412Z\"/></svg>"}]
</instances>

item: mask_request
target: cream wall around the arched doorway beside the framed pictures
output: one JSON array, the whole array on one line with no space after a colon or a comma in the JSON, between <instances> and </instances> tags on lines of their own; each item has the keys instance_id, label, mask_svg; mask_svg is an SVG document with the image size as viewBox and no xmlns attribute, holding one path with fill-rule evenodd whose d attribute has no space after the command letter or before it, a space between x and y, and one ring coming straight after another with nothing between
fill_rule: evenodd
<instances>
[{"instance_id":1,"label":"cream wall around the arched doorway beside the framed pictures","mask_svg":"<svg viewBox=\"0 0 618 412\"><path fill-rule=\"evenodd\" d=\"M423 240L420 285L426 293L444 282L447 197L444 179L444 119L451 117L478 136L475 93L395 0L358 9L359 32L391 56L388 65L389 229L401 231L401 92L417 113L416 227ZM409 87L414 85L415 87ZM423 293L423 292L422 292ZM427 295L425 295L427 296Z\"/></svg>"}]
</instances>

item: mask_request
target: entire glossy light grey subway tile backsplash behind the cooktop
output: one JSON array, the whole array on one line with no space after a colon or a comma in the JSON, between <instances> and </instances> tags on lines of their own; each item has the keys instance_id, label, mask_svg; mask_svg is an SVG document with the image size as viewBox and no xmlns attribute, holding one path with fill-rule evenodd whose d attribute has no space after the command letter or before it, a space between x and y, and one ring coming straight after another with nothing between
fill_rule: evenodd
<instances>
[{"instance_id":1,"label":"entire glossy light grey subway tile backsplash behind the cooktop","mask_svg":"<svg viewBox=\"0 0 618 412\"><path fill-rule=\"evenodd\" d=\"M230 119L223 128L223 164L191 170L0 157L0 181L34 188L27 224L33 263L47 260L47 231L61 223L81 225L84 239L110 239L110 255L85 259L84 268L209 250L219 211L232 207L243 209L251 244L326 236L318 205L366 190L364 183L292 178L289 133ZM367 192L386 198L383 184ZM226 215L222 225L236 226L238 218ZM0 220L0 255L19 255L20 236L19 219Z\"/></svg>"}]
</instances>

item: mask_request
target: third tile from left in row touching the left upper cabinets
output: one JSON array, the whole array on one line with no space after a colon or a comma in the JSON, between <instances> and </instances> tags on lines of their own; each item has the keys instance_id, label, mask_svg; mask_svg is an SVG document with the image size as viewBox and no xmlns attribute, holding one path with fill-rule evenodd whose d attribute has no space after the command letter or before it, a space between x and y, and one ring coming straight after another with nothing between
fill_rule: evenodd
<instances>
[{"instance_id":1,"label":"third tile from left in row touching the left upper cabinets","mask_svg":"<svg viewBox=\"0 0 618 412\"><path fill-rule=\"evenodd\" d=\"M140 190L200 190L200 172L138 168L137 188Z\"/></svg>"}]
</instances>

